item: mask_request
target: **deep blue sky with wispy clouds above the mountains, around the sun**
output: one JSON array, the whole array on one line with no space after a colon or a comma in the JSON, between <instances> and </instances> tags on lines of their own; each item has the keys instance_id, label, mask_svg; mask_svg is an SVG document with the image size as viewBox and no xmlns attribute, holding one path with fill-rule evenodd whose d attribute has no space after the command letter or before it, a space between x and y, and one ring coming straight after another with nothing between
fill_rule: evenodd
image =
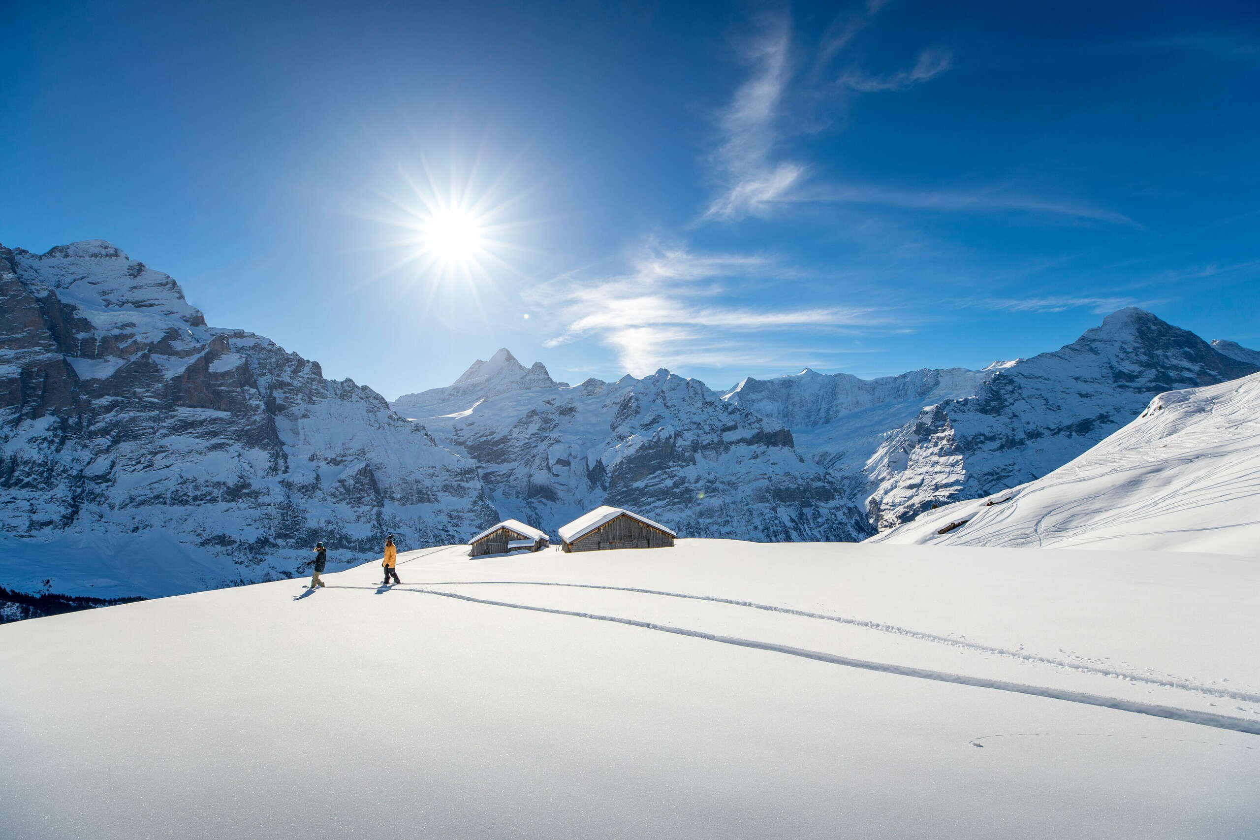
<instances>
[{"instance_id":1,"label":"deep blue sky with wispy clouds above the mountains, around the sun","mask_svg":"<svg viewBox=\"0 0 1260 840\"><path fill-rule=\"evenodd\" d=\"M391 399L499 346L980 367L1131 304L1260 346L1254 3L9 9L0 242L107 238Z\"/></svg>"}]
</instances>

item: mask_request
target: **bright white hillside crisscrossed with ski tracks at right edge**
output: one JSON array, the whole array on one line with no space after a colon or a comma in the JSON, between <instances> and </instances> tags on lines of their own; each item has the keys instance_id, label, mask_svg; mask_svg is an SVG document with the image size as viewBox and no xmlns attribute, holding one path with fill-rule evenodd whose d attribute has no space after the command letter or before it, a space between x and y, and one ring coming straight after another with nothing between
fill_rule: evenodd
<instances>
[{"instance_id":1,"label":"bright white hillside crisscrossed with ski tracks at right edge","mask_svg":"<svg viewBox=\"0 0 1260 840\"><path fill-rule=\"evenodd\" d=\"M1162 394L1048 475L929 511L871 541L1260 557L1260 373Z\"/></svg>"}]
</instances>

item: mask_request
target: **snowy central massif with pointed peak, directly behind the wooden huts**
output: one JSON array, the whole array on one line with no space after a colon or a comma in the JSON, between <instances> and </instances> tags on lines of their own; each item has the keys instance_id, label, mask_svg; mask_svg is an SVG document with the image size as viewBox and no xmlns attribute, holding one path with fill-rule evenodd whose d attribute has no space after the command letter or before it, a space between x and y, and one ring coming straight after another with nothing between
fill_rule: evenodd
<instances>
[{"instance_id":1,"label":"snowy central massif with pointed peak, directly behind the wooden huts","mask_svg":"<svg viewBox=\"0 0 1260 840\"><path fill-rule=\"evenodd\" d=\"M425 395L422 405L444 414L422 421L478 464L499 512L538 527L614 505L684 536L867 534L825 472L794 450L790 431L665 370L568 386L499 351Z\"/></svg>"}]
</instances>

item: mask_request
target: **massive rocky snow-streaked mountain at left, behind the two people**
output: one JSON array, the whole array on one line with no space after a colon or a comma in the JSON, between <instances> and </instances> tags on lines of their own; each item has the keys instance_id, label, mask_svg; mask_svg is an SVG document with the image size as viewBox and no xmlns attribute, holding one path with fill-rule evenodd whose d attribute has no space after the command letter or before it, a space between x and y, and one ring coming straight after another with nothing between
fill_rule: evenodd
<instances>
[{"instance_id":1,"label":"massive rocky snow-streaked mountain at left, behind the two people","mask_svg":"<svg viewBox=\"0 0 1260 840\"><path fill-rule=\"evenodd\" d=\"M0 585L164 595L462 540L465 458L102 241L0 247Z\"/></svg>"}]
</instances>

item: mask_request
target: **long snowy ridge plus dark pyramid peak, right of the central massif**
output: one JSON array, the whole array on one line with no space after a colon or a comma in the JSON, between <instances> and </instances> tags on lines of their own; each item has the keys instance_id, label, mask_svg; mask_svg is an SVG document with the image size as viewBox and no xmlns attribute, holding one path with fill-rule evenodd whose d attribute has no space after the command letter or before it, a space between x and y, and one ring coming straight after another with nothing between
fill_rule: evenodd
<instances>
[{"instance_id":1,"label":"long snowy ridge plus dark pyramid peak, right of the central massif","mask_svg":"<svg viewBox=\"0 0 1260 840\"><path fill-rule=\"evenodd\" d=\"M1052 353L983 371L745 380L726 395L789 425L869 522L1032 481L1138 416L1157 394L1260 370L1142 309L1121 309ZM1260 354L1257 354L1260 356Z\"/></svg>"}]
</instances>

